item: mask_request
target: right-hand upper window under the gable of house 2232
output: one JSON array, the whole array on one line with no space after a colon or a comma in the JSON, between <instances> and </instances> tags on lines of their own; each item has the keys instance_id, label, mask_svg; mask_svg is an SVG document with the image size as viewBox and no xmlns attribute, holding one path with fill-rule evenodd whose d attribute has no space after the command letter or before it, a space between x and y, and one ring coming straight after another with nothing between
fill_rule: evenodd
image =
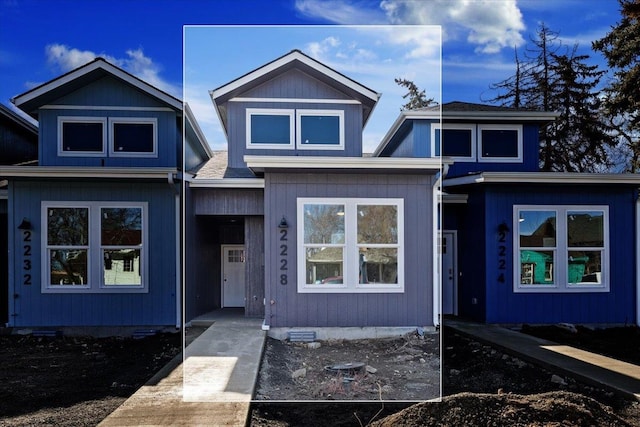
<instances>
[{"instance_id":1,"label":"right-hand upper window under the gable of house 2232","mask_svg":"<svg viewBox=\"0 0 640 427\"><path fill-rule=\"evenodd\" d=\"M157 119L109 118L109 155L118 157L157 156Z\"/></svg>"}]
</instances>

